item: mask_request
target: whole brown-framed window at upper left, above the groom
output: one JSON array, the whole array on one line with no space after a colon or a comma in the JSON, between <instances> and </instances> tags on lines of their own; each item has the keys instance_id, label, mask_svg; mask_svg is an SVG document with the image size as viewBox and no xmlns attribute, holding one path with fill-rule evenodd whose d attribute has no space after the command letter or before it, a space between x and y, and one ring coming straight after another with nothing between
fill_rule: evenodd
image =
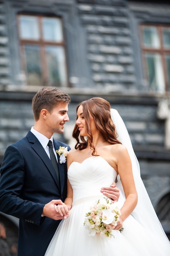
<instances>
[{"instance_id":1,"label":"whole brown-framed window at upper left, above the groom","mask_svg":"<svg viewBox=\"0 0 170 256\"><path fill-rule=\"evenodd\" d=\"M18 34L27 84L66 87L68 79L62 20L19 15Z\"/></svg>"}]
</instances>

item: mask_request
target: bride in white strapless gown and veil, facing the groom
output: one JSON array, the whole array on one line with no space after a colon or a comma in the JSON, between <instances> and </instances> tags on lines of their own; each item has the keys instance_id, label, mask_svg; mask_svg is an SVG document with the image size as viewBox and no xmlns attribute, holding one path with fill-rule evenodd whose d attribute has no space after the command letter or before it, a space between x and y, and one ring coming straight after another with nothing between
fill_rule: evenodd
<instances>
[{"instance_id":1,"label":"bride in white strapless gown and veil, facing the groom","mask_svg":"<svg viewBox=\"0 0 170 256\"><path fill-rule=\"evenodd\" d=\"M117 110L110 109L102 98L83 101L77 106L73 137L77 144L66 157L67 198L65 204L56 206L66 217L45 256L169 256L170 242L141 180L139 163ZM113 236L89 236L85 215L104 197L98 192L102 184L109 186L113 181L119 188L121 211Z\"/></svg>"}]
</instances>

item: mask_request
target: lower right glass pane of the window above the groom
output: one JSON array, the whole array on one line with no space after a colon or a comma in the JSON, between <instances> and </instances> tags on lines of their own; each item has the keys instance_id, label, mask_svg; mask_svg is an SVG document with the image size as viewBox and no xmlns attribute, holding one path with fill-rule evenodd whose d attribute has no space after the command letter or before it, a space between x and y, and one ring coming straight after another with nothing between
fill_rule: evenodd
<instances>
[{"instance_id":1,"label":"lower right glass pane of the window above the groom","mask_svg":"<svg viewBox=\"0 0 170 256\"><path fill-rule=\"evenodd\" d=\"M45 52L49 83L52 86L67 86L64 48L46 46Z\"/></svg>"}]
</instances>

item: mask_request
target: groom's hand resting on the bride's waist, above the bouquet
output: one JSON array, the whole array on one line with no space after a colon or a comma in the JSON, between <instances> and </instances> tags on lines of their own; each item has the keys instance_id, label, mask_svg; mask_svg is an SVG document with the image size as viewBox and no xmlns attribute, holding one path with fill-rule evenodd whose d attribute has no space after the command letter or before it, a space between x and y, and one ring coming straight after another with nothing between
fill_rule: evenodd
<instances>
[{"instance_id":1,"label":"groom's hand resting on the bride's waist, above the bouquet","mask_svg":"<svg viewBox=\"0 0 170 256\"><path fill-rule=\"evenodd\" d=\"M110 198L113 202L117 202L119 199L119 189L115 182L113 182L110 187L102 188L100 192Z\"/></svg>"}]
</instances>

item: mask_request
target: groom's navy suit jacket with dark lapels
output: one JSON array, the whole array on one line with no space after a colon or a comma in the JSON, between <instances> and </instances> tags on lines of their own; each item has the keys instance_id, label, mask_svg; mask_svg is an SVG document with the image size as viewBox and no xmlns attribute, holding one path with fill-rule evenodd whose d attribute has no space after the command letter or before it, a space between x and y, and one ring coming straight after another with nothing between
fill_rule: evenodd
<instances>
[{"instance_id":1,"label":"groom's navy suit jacket with dark lapels","mask_svg":"<svg viewBox=\"0 0 170 256\"><path fill-rule=\"evenodd\" d=\"M53 142L56 150L68 146ZM58 154L57 157L59 163ZM60 184L51 160L31 131L4 154L0 168L0 211L20 219L18 256L44 256L60 223L42 217L44 204L66 198L66 163L58 166Z\"/></svg>"}]
</instances>

